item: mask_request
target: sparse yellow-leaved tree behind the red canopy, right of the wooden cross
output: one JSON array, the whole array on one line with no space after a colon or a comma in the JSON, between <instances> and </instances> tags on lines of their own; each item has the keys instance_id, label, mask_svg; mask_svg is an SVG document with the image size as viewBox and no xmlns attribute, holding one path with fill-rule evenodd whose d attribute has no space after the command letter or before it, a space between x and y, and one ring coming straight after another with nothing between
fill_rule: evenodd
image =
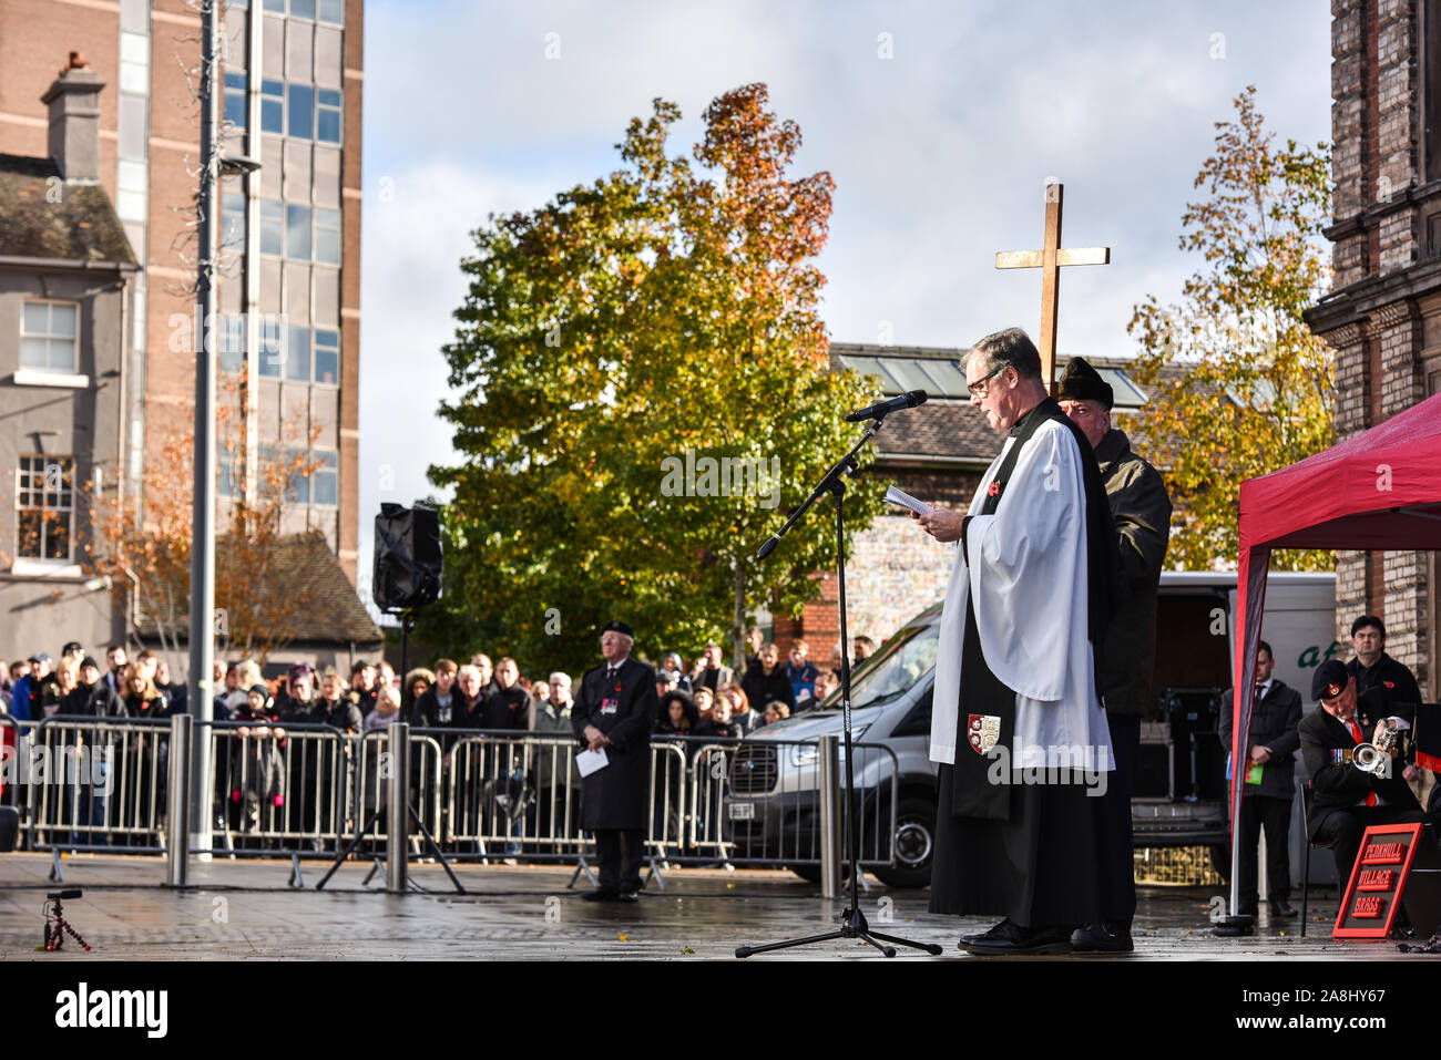
<instances>
[{"instance_id":1,"label":"sparse yellow-leaved tree behind the red canopy, right of the wooden cross","mask_svg":"<svg viewBox=\"0 0 1441 1060\"><path fill-rule=\"evenodd\" d=\"M1173 566L1233 566L1241 482L1333 442L1333 359L1301 314L1330 287L1321 229L1330 213L1326 144L1284 150L1264 128L1255 86L1216 122L1216 153L1182 215L1180 249L1205 262L1179 305L1147 295L1128 331L1150 390L1138 434L1176 503ZM1278 552L1281 570L1330 569L1331 553Z\"/></svg>"}]
</instances>

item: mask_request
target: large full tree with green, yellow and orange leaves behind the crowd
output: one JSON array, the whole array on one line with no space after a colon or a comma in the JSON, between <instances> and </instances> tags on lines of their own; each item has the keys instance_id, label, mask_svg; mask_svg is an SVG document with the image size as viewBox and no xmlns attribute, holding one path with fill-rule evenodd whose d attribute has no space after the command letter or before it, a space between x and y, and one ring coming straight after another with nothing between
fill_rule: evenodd
<instances>
[{"instance_id":1,"label":"large full tree with green, yellow and orange leaves behind the crowd","mask_svg":"<svg viewBox=\"0 0 1441 1060\"><path fill-rule=\"evenodd\" d=\"M830 370L817 314L830 174L788 177L800 128L767 105L764 85L715 99L693 166L667 157L680 111L656 99L623 169L473 233L441 409L463 461L429 472L454 490L431 642L579 668L624 618L651 655L739 650L758 606L818 593L827 513L752 556L844 451L837 412L865 387ZM878 485L850 495L866 526Z\"/></svg>"}]
</instances>

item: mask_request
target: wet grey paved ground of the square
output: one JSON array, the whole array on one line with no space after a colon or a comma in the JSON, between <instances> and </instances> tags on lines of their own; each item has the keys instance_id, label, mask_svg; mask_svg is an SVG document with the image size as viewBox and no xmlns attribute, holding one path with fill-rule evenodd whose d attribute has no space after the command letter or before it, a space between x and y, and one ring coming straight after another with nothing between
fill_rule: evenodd
<instances>
[{"instance_id":1,"label":"wet grey paved ground of the square","mask_svg":"<svg viewBox=\"0 0 1441 1060\"><path fill-rule=\"evenodd\" d=\"M403 896L380 890L383 873L366 889L370 864L360 861L317 893L326 868L304 863L305 890L294 890L288 861L195 863L192 886L174 891L159 886L166 870L159 858L76 854L63 861L63 884L53 884L49 855L0 855L0 961L37 956L40 903L61 887L85 889L85 897L65 903L66 919L94 958L111 961L732 959L742 943L831 930L843 909L820 899L817 886L769 870L672 868L664 891L651 883L638 904L623 906L581 902L588 884L582 879L568 890L571 867L460 866L470 893L454 894L438 866L412 866L412 883L427 893ZM1297 920L1265 915L1257 936L1219 939L1208 925L1210 897L1200 889L1143 889L1131 959L1404 958L1395 943L1331 940L1334 899L1311 903L1306 939L1295 933ZM947 958L976 959L958 952L955 939L989 923L929 916L925 902L925 891L888 891L872 881L862 910L875 930L938 943ZM68 940L63 952L43 956L92 955ZM752 959L856 956L883 959L853 939Z\"/></svg>"}]
</instances>

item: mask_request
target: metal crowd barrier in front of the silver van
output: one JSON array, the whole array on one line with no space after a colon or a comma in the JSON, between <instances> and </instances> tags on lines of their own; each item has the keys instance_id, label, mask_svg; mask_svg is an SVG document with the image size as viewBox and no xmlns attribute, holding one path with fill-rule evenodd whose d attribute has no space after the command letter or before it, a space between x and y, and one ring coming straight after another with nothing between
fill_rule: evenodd
<instances>
[{"instance_id":1,"label":"metal crowd barrier in front of the silver van","mask_svg":"<svg viewBox=\"0 0 1441 1060\"><path fill-rule=\"evenodd\" d=\"M895 750L882 745L856 743L853 750L859 861L863 868L882 868L892 860L898 760ZM824 789L817 740L705 740L693 755L687 850L672 860L818 873ZM839 756L844 771L844 747ZM849 808L843 783L839 821L844 844Z\"/></svg>"}]
</instances>

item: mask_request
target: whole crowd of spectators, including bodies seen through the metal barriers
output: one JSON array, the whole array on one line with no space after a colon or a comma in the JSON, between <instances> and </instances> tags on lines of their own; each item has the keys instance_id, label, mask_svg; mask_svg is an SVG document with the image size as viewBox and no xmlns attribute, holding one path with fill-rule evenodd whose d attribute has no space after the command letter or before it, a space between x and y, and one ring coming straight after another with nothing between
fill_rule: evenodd
<instances>
[{"instance_id":1,"label":"whole crowd of spectators, including bodies seen through the metal barriers","mask_svg":"<svg viewBox=\"0 0 1441 1060\"><path fill-rule=\"evenodd\" d=\"M804 639L791 642L782 660L780 648L765 642L761 631L752 628L746 647L746 664L739 674L722 662L718 642L708 644L689 670L673 651L664 652L659 664L650 664L660 703L654 733L739 739L818 703L840 684L839 644L829 668L810 660ZM855 639L857 662L873 650L870 638ZM49 717L167 719L190 713L187 687L171 680L163 657L148 650L131 655L125 645L114 644L101 658L104 665L84 645L69 642L61 650L59 661L39 651L27 660L0 662L0 714L14 722L39 723ZM334 798L344 798L349 805L352 796L344 788L334 788L340 778L329 772L331 766L326 765L329 759L320 753L318 743L282 750L287 740L294 742L291 727L326 726L363 736L392 720L405 720L427 730L510 730L574 737L569 674L556 671L546 678L526 678L516 660L503 657L491 664L483 652L464 664L441 658L403 675L383 660L356 661L349 674L330 667L317 673L308 662L295 662L269 681L254 660L216 661L212 687L216 690L212 717L231 723L216 733L220 740L216 743L216 798L223 807L218 812L223 824L238 832L282 828L310 834L324 830L324 822L331 819ZM13 743L14 732L0 727L0 739ZM59 739L65 737L46 737L48 742ZM120 772L128 779L118 802L108 794L86 796L86 802L73 794L66 796L66 817L72 827L82 830L76 841L85 840L86 828L98 837L101 828L115 821L138 819L130 804L141 798L137 786L141 781L154 786L153 805L163 814L167 737L156 737L148 752L140 750L147 746L144 735L127 739L86 733L84 739L118 750L128 763ZM460 733L441 737L445 769L451 768L450 749L458 739ZM37 739L37 743L46 740ZM373 750L367 742L362 753ZM548 773L555 772L553 756L535 755L533 759L537 772L519 779L545 788ZM350 769L357 759L346 752L346 760ZM491 779L480 775L487 771L486 765L477 768L476 783L465 782L467 798L473 794L468 786L483 786ZM373 786L369 771L366 776L366 783ZM16 798L22 805L29 802L32 809L39 807L36 795ZM375 792L363 792L362 798L369 808ZM130 809L120 809L121 805ZM267 814L269 824L264 822ZM342 815L344 827L356 824L353 817L349 811Z\"/></svg>"}]
</instances>

